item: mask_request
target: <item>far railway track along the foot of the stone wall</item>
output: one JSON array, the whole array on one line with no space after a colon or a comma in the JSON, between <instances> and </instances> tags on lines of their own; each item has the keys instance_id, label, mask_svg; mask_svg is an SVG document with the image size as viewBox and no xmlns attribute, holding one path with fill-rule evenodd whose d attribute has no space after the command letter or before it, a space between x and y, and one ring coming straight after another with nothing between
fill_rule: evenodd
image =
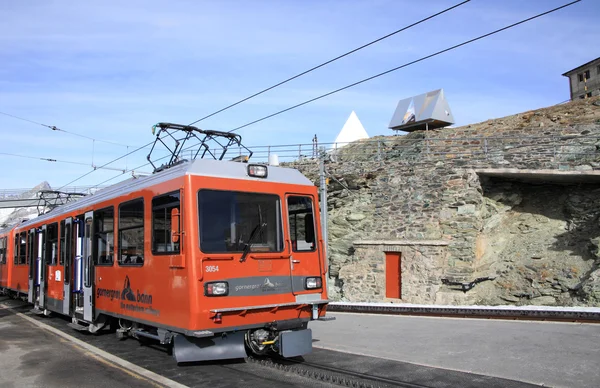
<instances>
[{"instance_id":1,"label":"far railway track along the foot of the stone wall","mask_svg":"<svg viewBox=\"0 0 600 388\"><path fill-rule=\"evenodd\" d=\"M600 323L600 308L550 306L428 306L393 303L332 302L329 312Z\"/></svg>"}]
</instances>

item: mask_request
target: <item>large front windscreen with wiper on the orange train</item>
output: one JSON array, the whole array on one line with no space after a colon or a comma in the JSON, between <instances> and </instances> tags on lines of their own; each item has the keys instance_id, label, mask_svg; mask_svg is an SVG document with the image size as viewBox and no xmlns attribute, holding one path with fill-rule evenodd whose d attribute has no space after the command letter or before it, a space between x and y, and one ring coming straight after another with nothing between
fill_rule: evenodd
<instances>
[{"instance_id":1,"label":"large front windscreen with wiper on the orange train","mask_svg":"<svg viewBox=\"0 0 600 388\"><path fill-rule=\"evenodd\" d=\"M198 191L200 249L206 253L281 252L281 204L272 194Z\"/></svg>"}]
</instances>

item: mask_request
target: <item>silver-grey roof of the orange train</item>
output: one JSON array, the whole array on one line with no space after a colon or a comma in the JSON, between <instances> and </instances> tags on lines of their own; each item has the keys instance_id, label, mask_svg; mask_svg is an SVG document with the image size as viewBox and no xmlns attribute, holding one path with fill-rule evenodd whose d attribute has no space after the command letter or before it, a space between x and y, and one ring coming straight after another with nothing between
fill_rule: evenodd
<instances>
[{"instance_id":1,"label":"silver-grey roof of the orange train","mask_svg":"<svg viewBox=\"0 0 600 388\"><path fill-rule=\"evenodd\" d=\"M54 218L57 214L69 213L98 202L104 202L121 195L129 194L132 191L141 190L186 175L314 186L314 184L308 178L302 175L300 171L286 167L267 166L268 175L266 178L251 177L248 176L248 165L249 164L247 163L212 159L198 159L184 162L149 176L130 178L123 182L119 182L105 189L99 190L92 195L88 195L77 201L58 207L47 214L41 215L29 221L25 221L21 224L17 224L8 229L1 230L0 233L7 232L15 227L22 228L28 225L43 222L47 219Z\"/></svg>"}]
</instances>

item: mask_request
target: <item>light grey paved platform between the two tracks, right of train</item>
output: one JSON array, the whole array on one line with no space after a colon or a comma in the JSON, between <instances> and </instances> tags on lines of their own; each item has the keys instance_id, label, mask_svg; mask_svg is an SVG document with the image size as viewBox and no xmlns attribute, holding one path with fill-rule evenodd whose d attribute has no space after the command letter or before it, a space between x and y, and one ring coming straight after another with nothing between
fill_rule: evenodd
<instances>
[{"instance_id":1,"label":"light grey paved platform between the two tracks, right of train","mask_svg":"<svg viewBox=\"0 0 600 388\"><path fill-rule=\"evenodd\" d=\"M552 387L600 385L600 325L330 313L313 346Z\"/></svg>"}]
</instances>

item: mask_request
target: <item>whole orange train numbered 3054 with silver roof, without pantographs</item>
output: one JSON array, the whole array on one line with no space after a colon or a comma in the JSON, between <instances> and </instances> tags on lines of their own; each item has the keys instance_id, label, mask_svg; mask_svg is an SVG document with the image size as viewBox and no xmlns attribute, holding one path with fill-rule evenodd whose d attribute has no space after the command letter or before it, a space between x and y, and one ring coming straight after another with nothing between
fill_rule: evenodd
<instances>
[{"instance_id":1,"label":"whole orange train numbered 3054 with silver roof, without pantographs","mask_svg":"<svg viewBox=\"0 0 600 388\"><path fill-rule=\"evenodd\" d=\"M179 163L1 233L0 287L75 329L172 345L178 362L298 356L328 319L319 219L297 170Z\"/></svg>"}]
</instances>

